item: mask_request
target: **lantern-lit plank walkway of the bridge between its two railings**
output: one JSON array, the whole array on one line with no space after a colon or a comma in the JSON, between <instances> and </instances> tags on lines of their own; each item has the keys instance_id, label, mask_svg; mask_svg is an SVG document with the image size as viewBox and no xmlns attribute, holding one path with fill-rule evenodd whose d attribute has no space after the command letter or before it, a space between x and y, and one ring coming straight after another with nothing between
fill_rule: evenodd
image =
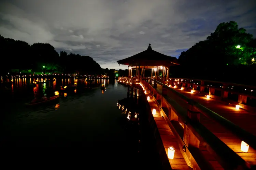
<instances>
[{"instance_id":1,"label":"lantern-lit plank walkway of the bridge between its two railings","mask_svg":"<svg viewBox=\"0 0 256 170\"><path fill-rule=\"evenodd\" d=\"M174 89L174 88L173 88ZM202 104L203 106L211 109L213 112L221 115L222 117L230 120L231 122L237 124L242 129L256 135L256 115L244 110L239 109L236 110L234 106L228 105L225 102L215 100L215 99L206 99L204 96L200 96L199 94L175 89L176 91L180 92L184 96L195 100L196 102ZM168 95L173 96L171 92L168 92ZM173 96L175 98L175 96ZM182 101L176 101L179 104ZM184 104L183 107L186 107L187 104ZM236 152L240 157L242 157L248 164L256 165L256 151L249 147L247 153L242 152L240 150L241 147L241 140L234 136L230 131L225 129L222 125L218 124L217 122L210 120L204 115L200 115L200 122L209 129L213 134L215 134L219 139L221 139L227 146L229 146L234 152Z\"/></svg>"}]
</instances>

